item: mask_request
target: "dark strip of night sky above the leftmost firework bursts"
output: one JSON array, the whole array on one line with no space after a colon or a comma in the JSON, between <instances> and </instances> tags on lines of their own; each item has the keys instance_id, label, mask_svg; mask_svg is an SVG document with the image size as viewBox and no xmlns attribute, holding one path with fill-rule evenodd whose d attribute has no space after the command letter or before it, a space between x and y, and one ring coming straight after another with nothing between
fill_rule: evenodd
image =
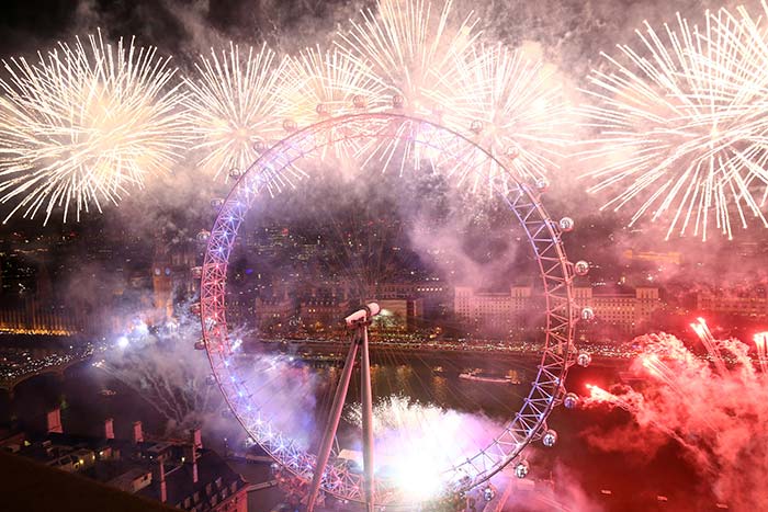
<instances>
[{"instance_id":1,"label":"dark strip of night sky above the leftmost firework bursts","mask_svg":"<svg viewBox=\"0 0 768 512\"><path fill-rule=\"evenodd\" d=\"M306 35L302 25L330 33L337 14L346 19L357 9L337 0L7 0L0 55L45 49L97 27L110 38L135 35L142 45L178 56L217 39L279 45L293 31Z\"/></svg>"}]
</instances>

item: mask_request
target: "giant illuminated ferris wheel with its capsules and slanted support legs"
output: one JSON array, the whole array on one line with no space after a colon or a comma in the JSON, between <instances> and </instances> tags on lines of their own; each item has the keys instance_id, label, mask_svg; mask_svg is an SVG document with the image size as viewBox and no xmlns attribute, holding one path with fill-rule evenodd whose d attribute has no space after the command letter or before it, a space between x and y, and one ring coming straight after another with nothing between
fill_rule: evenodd
<instances>
[{"instance_id":1,"label":"giant illuminated ferris wheel with its capsules and slanted support legs","mask_svg":"<svg viewBox=\"0 0 768 512\"><path fill-rule=\"evenodd\" d=\"M569 406L575 400L571 394L566 395L564 387L568 367L577 361L573 331L579 311L574 304L572 281L574 273L586 272L586 266L584 262L573 264L566 257L561 236L573 228L573 220L564 218L554 221L549 217L540 202L547 185L544 180L524 183L506 171L504 161L472 140L428 121L389 113L328 118L293 130L269 149L262 148L260 158L247 170L231 174L237 181L228 196L216 204L218 215L211 231L205 234L207 246L200 300L204 348L213 376L228 407L256 443L284 469L307 483L309 508L319 489L342 500L365 503L368 510L384 505L389 510L398 505L413 510L414 504L398 491L396 482L379 475L374 478L372 467L358 471L347 465L328 464L329 458L332 460L338 456L338 448L335 450L328 441L335 434L332 421L329 422L331 428L325 432L324 440L327 442L321 443L318 453L309 453L302 443L270 421L269 414L260 408L252 383L242 375L233 326L227 323L227 270L248 212L261 198L275 196L308 178L315 168L304 166L304 162L323 159L339 148L358 152L362 148L369 153L380 151L380 159L392 156L396 148L404 153L418 153L420 158L433 161L432 168L443 172L456 186L476 183L477 173L494 169L494 177L487 180L487 189L518 220L528 242L528 251L535 261L538 281L543 291L543 348L530 390L504 428L481 450L465 454L449 467L436 467L434 471L445 494L479 486L510 464L516 476L524 477L529 467L524 448L538 440L545 446L554 445L557 434L547 428L547 417L555 406L562 402ZM370 373L364 328L369 316L375 314L375 308L372 305L368 311L361 312L360 319L363 321L355 326L359 337L350 344L347 357L347 365L354 364L357 355L352 348L359 344L363 389L365 374ZM587 354L579 354L579 363L588 362L581 361L587 357ZM370 375L368 378L370 392ZM342 406L343 392L337 391L337 395ZM370 411L370 396L368 400L365 403L363 397L363 416L366 408ZM370 425L370 417L368 423ZM370 428L364 437L366 452L371 450L370 444L375 443ZM365 457L365 463L371 466L369 457Z\"/></svg>"}]
</instances>

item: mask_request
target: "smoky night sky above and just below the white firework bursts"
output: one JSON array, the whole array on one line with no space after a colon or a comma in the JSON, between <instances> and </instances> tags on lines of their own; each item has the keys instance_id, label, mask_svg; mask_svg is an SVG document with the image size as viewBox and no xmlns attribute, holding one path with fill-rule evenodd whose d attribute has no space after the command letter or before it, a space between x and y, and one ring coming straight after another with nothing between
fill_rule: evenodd
<instances>
[{"instance_id":1,"label":"smoky night sky above and just below the white firework bursts","mask_svg":"<svg viewBox=\"0 0 768 512\"><path fill-rule=\"evenodd\" d=\"M747 2L750 3L757 2ZM643 20L660 27L664 21L674 22L676 11L696 21L707 9L720 5L707 0L455 2L462 14L474 10L481 20L479 27L484 30L484 41L500 41L510 47L540 47L544 59L562 71L566 90L573 92L575 103L583 101L578 88L585 73L599 65L599 52L610 52L618 43L633 43L633 31ZM76 35L84 36L100 27L108 39L135 36L137 45L156 45L160 54L172 55L180 71L187 73L192 70L191 64L200 53L207 53L212 46L221 47L229 41L252 45L267 42L282 54L295 53L307 45L327 45L335 31L346 26L360 9L371 7L373 2L319 0L11 0L3 2L0 19L0 33L3 34L0 56L4 59L13 56L34 58L35 52L54 48L57 41L69 42ZM702 251L701 241L696 237L664 242L657 232L647 236L652 229L647 226L643 227L644 231L632 232L622 228L619 223L625 219L598 212L601 203L586 195L585 183L577 179L584 170L575 161L566 162L554 178L546 200L553 217L569 215L577 220L576 237L581 247L574 251L586 253L598 248L600 252L601 247L622 246L621 240L623 246L682 250L690 259L699 259L713 269L722 268L722 259L730 257L733 246L718 239L708 242L707 251ZM212 196L211 190L195 190L195 183L190 180L178 173L172 180L160 182L155 190L150 186L140 201L137 197L124 201L111 215L120 221L135 221L134 214L138 208L140 212L157 212L165 218L174 207L194 202L194 197L179 201L172 196L169 201L162 191L169 185L191 190L203 201ZM139 224L151 225L155 217L150 217ZM36 223L19 219L14 226L34 227ZM748 234L737 232L737 240L764 239L764 231L756 228Z\"/></svg>"}]
</instances>

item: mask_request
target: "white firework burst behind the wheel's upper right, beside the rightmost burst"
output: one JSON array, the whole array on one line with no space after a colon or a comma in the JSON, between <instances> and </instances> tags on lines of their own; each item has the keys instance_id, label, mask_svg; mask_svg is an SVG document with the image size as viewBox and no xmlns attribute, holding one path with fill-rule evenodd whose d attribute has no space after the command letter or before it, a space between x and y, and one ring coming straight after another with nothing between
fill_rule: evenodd
<instances>
[{"instance_id":1,"label":"white firework burst behind the wheel's upper right, beside the rightmost burst","mask_svg":"<svg viewBox=\"0 0 768 512\"><path fill-rule=\"evenodd\" d=\"M449 96L434 93L447 105L447 126L467 135L519 179L535 180L557 168L572 123L552 68L499 44L473 46L455 59L455 73ZM506 179L497 167L477 177Z\"/></svg>"}]
</instances>

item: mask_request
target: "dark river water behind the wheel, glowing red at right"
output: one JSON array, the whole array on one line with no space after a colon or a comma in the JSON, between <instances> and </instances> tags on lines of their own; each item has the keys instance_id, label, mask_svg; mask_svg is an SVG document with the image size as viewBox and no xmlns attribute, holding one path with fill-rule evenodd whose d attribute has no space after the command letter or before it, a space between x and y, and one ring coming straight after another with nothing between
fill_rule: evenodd
<instances>
[{"instance_id":1,"label":"dark river water behind the wheel, glowing red at right","mask_svg":"<svg viewBox=\"0 0 768 512\"><path fill-rule=\"evenodd\" d=\"M530 360L476 356L458 360L455 355L410 361L399 355L387 357L373 357L372 378L377 402L387 396L406 396L410 401L436 402L473 413L482 411L490 421L504 421L519 408L535 369L535 362ZM328 363L296 364L303 371L313 372L320 382L331 382L339 372L337 365ZM472 382L459 376L465 369L477 367L496 375L513 371L521 384ZM575 367L568 376L567 388L584 392L586 383L609 386L618 380L622 369L621 363ZM318 410L327 407L328 388L315 388ZM104 394L104 389L115 394ZM359 396L357 379L353 379L350 396L352 401ZM114 418L117 436L128 436L131 423L136 420L143 421L149 434L159 435L165 430L165 420L148 403L148 398L86 363L71 367L63 377L31 378L20 384L12 396L1 394L0 421L15 419L24 425L41 426L45 410L59 406L67 432L99 435L101 421ZM349 419L349 411L346 418ZM554 477L555 496L578 507L571 510L716 510L715 499L707 490L709 486L700 480L674 444L645 455L603 452L586 442L596 429L621 426L628 420L623 411L555 409L549 425L560 434L557 445L552 450L540 445L530 448L531 478ZM221 447L224 436L236 435L239 426L231 419L227 421L229 424L224 428L218 422L216 430L205 432L207 446ZM634 441L628 440L628 444ZM524 496L510 501L516 503L513 510L529 510Z\"/></svg>"}]
</instances>

